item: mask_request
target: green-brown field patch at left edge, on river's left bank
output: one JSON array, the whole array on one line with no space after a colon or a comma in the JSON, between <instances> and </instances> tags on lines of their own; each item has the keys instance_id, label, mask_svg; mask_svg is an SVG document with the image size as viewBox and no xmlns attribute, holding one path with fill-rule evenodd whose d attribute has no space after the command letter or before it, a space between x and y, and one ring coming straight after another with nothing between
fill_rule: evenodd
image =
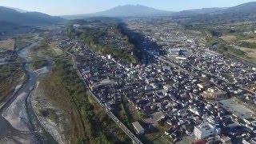
<instances>
[{"instance_id":1,"label":"green-brown field patch at left edge, on river's left bank","mask_svg":"<svg viewBox=\"0 0 256 144\"><path fill-rule=\"evenodd\" d=\"M0 103L10 96L15 86L22 83L22 65L0 66Z\"/></svg>"}]
</instances>

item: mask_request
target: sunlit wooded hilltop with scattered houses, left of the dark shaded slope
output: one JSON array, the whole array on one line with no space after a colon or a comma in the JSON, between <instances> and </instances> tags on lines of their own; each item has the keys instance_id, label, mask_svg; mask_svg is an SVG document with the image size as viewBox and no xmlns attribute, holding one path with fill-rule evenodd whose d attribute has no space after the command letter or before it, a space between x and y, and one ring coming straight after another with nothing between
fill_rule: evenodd
<instances>
[{"instance_id":1,"label":"sunlit wooded hilltop with scattered houses, left of the dark shaded slope","mask_svg":"<svg viewBox=\"0 0 256 144\"><path fill-rule=\"evenodd\" d=\"M72 23L72 22L71 22ZM106 23L105 27L83 27L81 30L74 30L73 25L69 23L66 27L66 34L69 38L80 38L86 42L90 48L100 54L112 54L116 58L125 60L126 62L137 62L136 58L130 54L133 51L133 45L127 37L124 42L130 46L130 50L114 48L114 43L111 43L108 38L107 31L111 30L114 34L119 34L120 31L116 24ZM91 24L91 23L90 23ZM102 43L104 42L104 43ZM106 43L108 42L108 43Z\"/></svg>"}]
</instances>

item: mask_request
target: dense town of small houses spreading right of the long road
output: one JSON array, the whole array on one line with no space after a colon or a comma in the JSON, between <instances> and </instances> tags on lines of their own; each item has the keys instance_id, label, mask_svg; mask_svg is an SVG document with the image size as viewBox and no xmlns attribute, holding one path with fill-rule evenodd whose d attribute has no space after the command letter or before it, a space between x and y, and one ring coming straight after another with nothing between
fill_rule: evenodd
<instances>
[{"instance_id":1,"label":"dense town of small houses spreading right of the long road","mask_svg":"<svg viewBox=\"0 0 256 144\"><path fill-rule=\"evenodd\" d=\"M82 78L106 110L115 113L125 97L146 115L132 123L138 138L159 125L166 127L166 141L255 142L256 98L246 85L255 82L256 67L218 54L196 32L154 24L128 22L130 30L145 36L139 45L151 58L147 64L95 53L81 40L66 37L65 30L58 33L58 46L75 51ZM147 49L154 42L162 49Z\"/></svg>"}]
</instances>

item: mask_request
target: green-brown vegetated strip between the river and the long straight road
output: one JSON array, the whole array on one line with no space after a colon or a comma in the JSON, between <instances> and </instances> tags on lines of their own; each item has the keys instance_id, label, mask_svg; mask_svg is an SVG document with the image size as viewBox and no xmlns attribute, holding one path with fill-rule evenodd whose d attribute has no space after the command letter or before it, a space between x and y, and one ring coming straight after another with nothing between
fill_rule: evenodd
<instances>
[{"instance_id":1,"label":"green-brown vegetated strip between the river and the long straight road","mask_svg":"<svg viewBox=\"0 0 256 144\"><path fill-rule=\"evenodd\" d=\"M115 126L104 110L88 97L72 62L58 60L54 65L52 73L41 82L44 86L40 87L44 87L54 105L66 112L64 115L69 118L69 124L65 135L71 142L130 142L130 138ZM54 114L50 119L54 119Z\"/></svg>"}]
</instances>

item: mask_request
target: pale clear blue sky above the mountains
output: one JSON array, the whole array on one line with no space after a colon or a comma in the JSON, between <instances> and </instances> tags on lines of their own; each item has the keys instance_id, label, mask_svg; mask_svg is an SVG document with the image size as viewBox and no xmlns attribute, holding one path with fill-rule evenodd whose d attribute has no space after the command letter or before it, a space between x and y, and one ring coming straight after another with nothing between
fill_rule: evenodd
<instances>
[{"instance_id":1,"label":"pale clear blue sky above the mountains","mask_svg":"<svg viewBox=\"0 0 256 144\"><path fill-rule=\"evenodd\" d=\"M251 0L0 0L0 6L39 11L51 15L87 14L114 6L140 4L159 10L189 10L203 7L236 6Z\"/></svg>"}]
</instances>

